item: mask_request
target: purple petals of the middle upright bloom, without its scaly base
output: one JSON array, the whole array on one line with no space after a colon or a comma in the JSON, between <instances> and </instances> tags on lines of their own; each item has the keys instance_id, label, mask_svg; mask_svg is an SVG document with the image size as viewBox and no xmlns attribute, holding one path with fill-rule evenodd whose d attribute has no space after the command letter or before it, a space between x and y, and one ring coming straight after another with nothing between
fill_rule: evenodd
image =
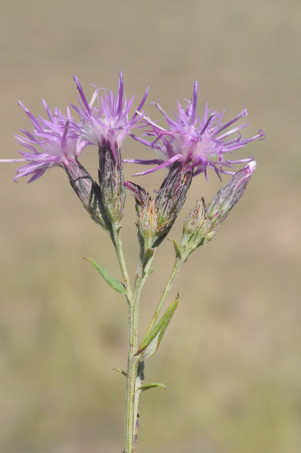
<instances>
[{"instance_id":1,"label":"purple petals of the middle upright bloom, without its scaly base","mask_svg":"<svg viewBox=\"0 0 301 453\"><path fill-rule=\"evenodd\" d=\"M102 138L108 140L112 144L114 149L115 143L118 148L129 130L140 120L138 113L134 113L132 118L128 119L128 112L132 106L134 96L127 101L124 93L124 101L122 108L123 98L123 78L120 72L119 76L119 89L117 96L115 93L108 90L104 90L104 95L100 96L99 91L101 88L96 88L90 103L88 103L83 89L79 83L76 75L73 76L80 97L78 98L80 107L77 108L74 105L72 107L79 113L83 120L83 124L80 130L80 136L90 143L99 145L102 142ZM137 110L142 108L148 94L148 88L140 102ZM96 101L96 106L93 104Z\"/></svg>"}]
</instances>

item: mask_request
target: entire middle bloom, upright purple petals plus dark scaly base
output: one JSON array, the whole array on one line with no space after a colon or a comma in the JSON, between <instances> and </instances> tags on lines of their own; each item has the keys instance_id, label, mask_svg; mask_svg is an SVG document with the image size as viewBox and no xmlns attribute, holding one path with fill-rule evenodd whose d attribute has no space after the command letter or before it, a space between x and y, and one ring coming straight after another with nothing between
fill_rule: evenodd
<instances>
[{"instance_id":1,"label":"entire middle bloom, upright purple petals plus dark scaly base","mask_svg":"<svg viewBox=\"0 0 301 453\"><path fill-rule=\"evenodd\" d=\"M78 78L74 76L80 94L80 107L72 107L82 119L79 140L88 141L98 146L99 157L99 186L102 204L109 222L118 228L123 216L125 204L125 188L123 179L120 146L130 129L140 120L138 113L128 119L128 112L133 103L133 97L123 101L123 79L120 72L117 97L111 91L104 91L104 97L99 97L99 88L88 103ZM142 108L148 93L148 88L140 102ZM96 106L94 103L96 101Z\"/></svg>"}]
</instances>

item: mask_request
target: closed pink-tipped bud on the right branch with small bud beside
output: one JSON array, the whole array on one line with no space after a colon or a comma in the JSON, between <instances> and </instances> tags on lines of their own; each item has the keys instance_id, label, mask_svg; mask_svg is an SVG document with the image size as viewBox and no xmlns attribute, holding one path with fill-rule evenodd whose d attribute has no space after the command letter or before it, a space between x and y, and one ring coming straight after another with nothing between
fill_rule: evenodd
<instances>
[{"instance_id":1,"label":"closed pink-tipped bud on the right branch with small bud beside","mask_svg":"<svg viewBox=\"0 0 301 453\"><path fill-rule=\"evenodd\" d=\"M197 247L213 239L216 228L220 226L242 197L255 167L256 163L252 161L248 166L235 173L228 183L218 191L207 208L203 198L201 202L197 202L183 225L180 253L184 259L187 259Z\"/></svg>"}]
</instances>

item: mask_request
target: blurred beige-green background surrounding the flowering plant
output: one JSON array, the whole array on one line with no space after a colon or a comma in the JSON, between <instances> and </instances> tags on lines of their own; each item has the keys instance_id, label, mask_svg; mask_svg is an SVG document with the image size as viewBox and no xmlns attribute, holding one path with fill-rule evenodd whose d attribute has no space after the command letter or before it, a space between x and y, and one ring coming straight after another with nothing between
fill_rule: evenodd
<instances>
[{"instance_id":1,"label":"blurred beige-green background surrounding the flowering plant","mask_svg":"<svg viewBox=\"0 0 301 453\"><path fill-rule=\"evenodd\" d=\"M17 101L76 103L76 73L170 112L199 80L206 102L230 120L248 109L257 169L217 234L184 265L171 297L180 305L159 352L146 362L137 451L300 453L300 80L298 1L1 0L1 158L17 157L14 134L31 127ZM146 108L154 117L152 106ZM145 156L127 140L123 156ZM81 162L96 178L97 153ZM106 234L86 215L61 169L14 184L1 172L0 420L5 453L121 453L127 310L82 256L120 278ZM130 178L137 167L125 165ZM153 193L165 172L139 178ZM223 183L227 177L223 178ZM193 181L172 236L201 196L221 187L213 172ZM134 201L123 226L131 275L137 259ZM140 336L172 268L165 241L141 303ZM170 300L172 300L170 298Z\"/></svg>"}]
</instances>

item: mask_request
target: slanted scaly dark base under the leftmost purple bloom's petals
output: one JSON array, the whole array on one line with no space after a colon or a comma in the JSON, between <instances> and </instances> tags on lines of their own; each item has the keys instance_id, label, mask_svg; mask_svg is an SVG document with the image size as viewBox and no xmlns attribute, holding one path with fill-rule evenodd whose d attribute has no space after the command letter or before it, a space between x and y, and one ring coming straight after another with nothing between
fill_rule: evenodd
<instances>
[{"instance_id":1,"label":"slanted scaly dark base under the leftmost purple bloom's petals","mask_svg":"<svg viewBox=\"0 0 301 453\"><path fill-rule=\"evenodd\" d=\"M64 162L64 168L70 184L84 208L97 225L111 234L110 224L105 215L98 184L93 181L87 170L78 161L67 159Z\"/></svg>"}]
</instances>

